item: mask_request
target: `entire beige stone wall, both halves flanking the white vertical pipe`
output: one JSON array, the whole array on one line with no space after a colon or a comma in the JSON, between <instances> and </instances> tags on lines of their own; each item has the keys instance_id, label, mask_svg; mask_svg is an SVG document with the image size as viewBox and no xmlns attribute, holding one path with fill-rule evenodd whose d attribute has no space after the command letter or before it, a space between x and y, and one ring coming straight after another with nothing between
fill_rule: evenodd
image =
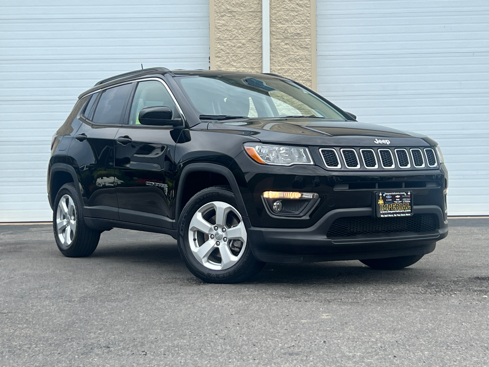
<instances>
[{"instance_id":1,"label":"entire beige stone wall, both halves flanking the white vertical pipe","mask_svg":"<svg viewBox=\"0 0 489 367\"><path fill-rule=\"evenodd\" d=\"M209 0L211 69L262 72L262 1ZM316 87L315 0L270 0L270 72Z\"/></svg>"}]
</instances>

